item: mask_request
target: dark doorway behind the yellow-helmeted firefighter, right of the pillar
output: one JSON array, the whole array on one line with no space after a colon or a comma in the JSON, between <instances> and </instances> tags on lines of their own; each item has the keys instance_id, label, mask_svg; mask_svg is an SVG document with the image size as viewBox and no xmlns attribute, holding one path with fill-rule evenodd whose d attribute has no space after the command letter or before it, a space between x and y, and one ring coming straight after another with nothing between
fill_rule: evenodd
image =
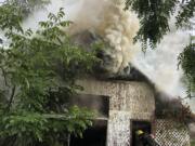
<instances>
[{"instance_id":1,"label":"dark doorway behind the yellow-helmeted firefighter, right of the pillar","mask_svg":"<svg viewBox=\"0 0 195 146\"><path fill-rule=\"evenodd\" d=\"M148 121L131 121L131 146L140 146L135 132L142 130L144 133L151 134L152 125Z\"/></svg>"}]
</instances>

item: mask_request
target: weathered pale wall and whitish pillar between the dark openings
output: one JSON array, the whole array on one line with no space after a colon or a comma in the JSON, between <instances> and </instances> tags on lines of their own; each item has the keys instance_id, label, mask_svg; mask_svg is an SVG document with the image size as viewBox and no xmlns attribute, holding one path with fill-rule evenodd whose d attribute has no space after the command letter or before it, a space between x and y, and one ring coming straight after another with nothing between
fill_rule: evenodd
<instances>
[{"instance_id":1,"label":"weathered pale wall and whitish pillar between the dark openings","mask_svg":"<svg viewBox=\"0 0 195 146\"><path fill-rule=\"evenodd\" d=\"M80 80L83 94L109 97L107 146L130 145L130 120L150 121L154 117L155 99L144 82Z\"/></svg>"}]
</instances>

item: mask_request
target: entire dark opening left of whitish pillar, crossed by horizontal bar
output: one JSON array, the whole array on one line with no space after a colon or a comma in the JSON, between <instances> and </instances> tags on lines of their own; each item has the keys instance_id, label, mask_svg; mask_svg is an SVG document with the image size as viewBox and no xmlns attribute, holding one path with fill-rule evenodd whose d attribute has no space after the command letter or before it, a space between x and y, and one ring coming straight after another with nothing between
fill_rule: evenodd
<instances>
[{"instance_id":1,"label":"entire dark opening left of whitish pillar, crossed by horizontal bar","mask_svg":"<svg viewBox=\"0 0 195 146\"><path fill-rule=\"evenodd\" d=\"M83 137L70 135L69 146L106 146L109 97L79 94L67 98L68 106L77 105L95 111L93 127L83 132Z\"/></svg>"}]
</instances>

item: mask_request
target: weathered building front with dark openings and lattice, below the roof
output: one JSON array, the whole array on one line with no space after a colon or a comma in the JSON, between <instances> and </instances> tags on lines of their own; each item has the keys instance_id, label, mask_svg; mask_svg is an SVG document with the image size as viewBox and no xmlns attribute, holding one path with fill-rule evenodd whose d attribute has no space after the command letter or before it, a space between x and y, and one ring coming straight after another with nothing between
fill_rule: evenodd
<instances>
[{"instance_id":1,"label":"weathered building front with dark openings and lattice, below the roof","mask_svg":"<svg viewBox=\"0 0 195 146\"><path fill-rule=\"evenodd\" d=\"M152 133L160 146L190 146L187 125L157 114L158 97L148 83L88 78L78 84L84 90L69 102L98 116L83 138L70 138L70 146L136 146L138 130Z\"/></svg>"}]
</instances>

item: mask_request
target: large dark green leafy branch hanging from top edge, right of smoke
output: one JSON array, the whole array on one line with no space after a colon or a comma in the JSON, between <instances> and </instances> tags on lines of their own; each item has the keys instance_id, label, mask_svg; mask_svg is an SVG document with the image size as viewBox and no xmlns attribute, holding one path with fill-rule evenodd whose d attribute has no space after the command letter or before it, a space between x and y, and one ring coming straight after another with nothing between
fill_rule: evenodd
<instances>
[{"instance_id":1,"label":"large dark green leafy branch hanging from top edge, right of smoke","mask_svg":"<svg viewBox=\"0 0 195 146\"><path fill-rule=\"evenodd\" d=\"M174 12L178 0L127 0L127 8L131 6L138 13L141 28L134 38L146 50L147 42L154 49L162 37L169 31L169 18Z\"/></svg>"}]
</instances>

